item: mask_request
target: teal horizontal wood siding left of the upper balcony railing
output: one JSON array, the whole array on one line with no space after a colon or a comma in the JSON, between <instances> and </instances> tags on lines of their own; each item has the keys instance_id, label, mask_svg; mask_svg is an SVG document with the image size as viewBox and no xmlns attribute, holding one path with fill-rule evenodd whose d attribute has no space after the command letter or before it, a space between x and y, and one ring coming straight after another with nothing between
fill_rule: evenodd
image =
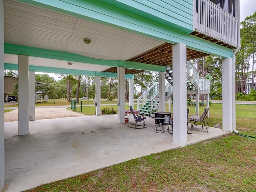
<instances>
[{"instance_id":1,"label":"teal horizontal wood siding left of the upper balcony railing","mask_svg":"<svg viewBox=\"0 0 256 192\"><path fill-rule=\"evenodd\" d=\"M154 17L162 22L186 33L193 31L193 0L116 0L122 4L136 8L140 16ZM142 13L144 12L144 14ZM135 12L134 12L135 13ZM167 24L167 22L169 24ZM183 28L183 29L182 29Z\"/></svg>"}]
</instances>

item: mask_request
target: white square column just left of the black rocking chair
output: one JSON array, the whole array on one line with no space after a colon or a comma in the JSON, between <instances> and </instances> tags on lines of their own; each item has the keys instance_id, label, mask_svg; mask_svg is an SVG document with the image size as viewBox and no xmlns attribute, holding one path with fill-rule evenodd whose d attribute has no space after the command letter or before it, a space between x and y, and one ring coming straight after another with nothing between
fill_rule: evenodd
<instances>
[{"instance_id":1,"label":"white square column just left of the black rocking chair","mask_svg":"<svg viewBox=\"0 0 256 192\"><path fill-rule=\"evenodd\" d=\"M118 79L118 123L124 123L124 67L117 68Z\"/></svg>"}]
</instances>

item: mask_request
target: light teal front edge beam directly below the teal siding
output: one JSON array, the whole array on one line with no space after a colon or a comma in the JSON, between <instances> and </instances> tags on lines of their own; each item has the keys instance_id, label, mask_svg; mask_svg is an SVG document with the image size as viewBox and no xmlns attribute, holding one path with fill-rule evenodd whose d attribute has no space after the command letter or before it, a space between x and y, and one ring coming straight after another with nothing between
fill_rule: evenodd
<instances>
[{"instance_id":1,"label":"light teal front edge beam directly below the teal siding","mask_svg":"<svg viewBox=\"0 0 256 192\"><path fill-rule=\"evenodd\" d=\"M214 44L202 38L181 33L177 29L162 23L152 22L150 19L140 18L133 14L127 14L122 10L110 9L106 4L94 0L20 0L28 4L40 6L78 18L94 21L128 32L140 34L150 38L170 42L172 44L184 43L192 50L198 50L222 58L232 58L233 50ZM97 4L96 4L97 3ZM105 6L104 6L105 5ZM150 22L151 21L151 22Z\"/></svg>"}]
</instances>

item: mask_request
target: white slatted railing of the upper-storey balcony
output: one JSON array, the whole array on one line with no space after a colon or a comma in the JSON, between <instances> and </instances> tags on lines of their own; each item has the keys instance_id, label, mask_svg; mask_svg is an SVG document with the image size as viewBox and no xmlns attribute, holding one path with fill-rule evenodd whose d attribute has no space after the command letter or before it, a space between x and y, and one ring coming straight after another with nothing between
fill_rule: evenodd
<instances>
[{"instance_id":1,"label":"white slatted railing of the upper-storey balcony","mask_svg":"<svg viewBox=\"0 0 256 192\"><path fill-rule=\"evenodd\" d=\"M194 0L194 4L196 2L198 12L195 5L195 31L237 47L237 18L210 0Z\"/></svg>"}]
</instances>

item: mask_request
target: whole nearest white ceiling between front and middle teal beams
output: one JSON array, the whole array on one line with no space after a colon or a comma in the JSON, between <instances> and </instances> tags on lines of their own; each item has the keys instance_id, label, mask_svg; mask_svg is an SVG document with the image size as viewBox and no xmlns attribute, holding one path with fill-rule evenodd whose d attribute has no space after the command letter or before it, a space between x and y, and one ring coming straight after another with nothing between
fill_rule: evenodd
<instances>
[{"instance_id":1,"label":"whole nearest white ceiling between front and middle teal beams","mask_svg":"<svg viewBox=\"0 0 256 192\"><path fill-rule=\"evenodd\" d=\"M6 43L103 60L128 60L163 43L16 0L4 1L4 25Z\"/></svg>"}]
</instances>

